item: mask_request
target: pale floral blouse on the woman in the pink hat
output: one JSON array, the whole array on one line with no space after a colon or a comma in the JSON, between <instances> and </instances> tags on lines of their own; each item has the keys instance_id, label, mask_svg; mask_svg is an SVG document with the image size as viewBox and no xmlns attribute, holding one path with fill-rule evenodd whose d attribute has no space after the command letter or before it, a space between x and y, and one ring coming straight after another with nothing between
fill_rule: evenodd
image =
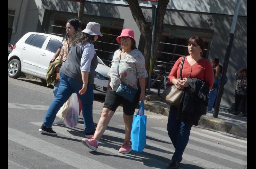
<instances>
[{"instance_id":1,"label":"pale floral blouse on the woman in the pink hat","mask_svg":"<svg viewBox=\"0 0 256 169\"><path fill-rule=\"evenodd\" d=\"M110 87L116 91L120 85L120 79L117 75L117 65L121 50L116 50L112 60L112 66L108 75L111 78ZM119 63L119 75L121 81L132 88L137 89L138 79L147 78L148 73L145 68L145 58L138 49L126 54Z\"/></svg>"}]
</instances>

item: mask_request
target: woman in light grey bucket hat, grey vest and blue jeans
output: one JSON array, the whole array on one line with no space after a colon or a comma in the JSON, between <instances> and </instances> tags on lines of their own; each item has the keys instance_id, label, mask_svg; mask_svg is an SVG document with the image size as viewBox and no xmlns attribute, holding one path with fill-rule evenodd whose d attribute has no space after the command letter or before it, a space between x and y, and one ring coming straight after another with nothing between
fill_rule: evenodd
<instances>
[{"instance_id":1,"label":"woman in light grey bucket hat, grey vest and blue jeans","mask_svg":"<svg viewBox=\"0 0 256 169\"><path fill-rule=\"evenodd\" d=\"M76 31L70 39L71 47L65 64L60 69L60 86L45 116L40 132L56 135L52 123L60 107L76 92L82 101L85 137L91 137L95 128L92 118L94 73L98 65L93 42L102 36L100 24L89 22L86 28Z\"/></svg>"}]
</instances>

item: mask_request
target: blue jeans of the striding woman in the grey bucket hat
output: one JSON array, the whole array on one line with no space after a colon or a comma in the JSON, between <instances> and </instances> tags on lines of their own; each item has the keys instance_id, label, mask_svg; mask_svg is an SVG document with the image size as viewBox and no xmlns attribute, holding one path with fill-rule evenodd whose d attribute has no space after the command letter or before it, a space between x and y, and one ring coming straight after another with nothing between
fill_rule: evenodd
<instances>
[{"instance_id":1,"label":"blue jeans of the striding woman in the grey bucket hat","mask_svg":"<svg viewBox=\"0 0 256 169\"><path fill-rule=\"evenodd\" d=\"M92 119L92 104L94 99L93 84L88 84L86 92L83 95L80 95L78 92L82 89L82 87L83 82L77 81L60 72L60 86L55 98L52 100L52 103L44 116L43 125L51 128L60 107L63 106L73 92L76 92L77 96L82 102L85 133L94 131L94 123Z\"/></svg>"}]
</instances>

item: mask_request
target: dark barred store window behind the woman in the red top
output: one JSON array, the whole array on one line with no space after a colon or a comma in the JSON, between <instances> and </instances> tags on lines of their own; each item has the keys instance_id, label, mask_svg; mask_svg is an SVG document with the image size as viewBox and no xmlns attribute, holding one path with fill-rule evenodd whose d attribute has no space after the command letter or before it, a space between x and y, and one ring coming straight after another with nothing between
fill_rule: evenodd
<instances>
[{"instance_id":1,"label":"dark barred store window behind the woman in the red top","mask_svg":"<svg viewBox=\"0 0 256 169\"><path fill-rule=\"evenodd\" d=\"M186 30L189 29L189 30ZM167 65L167 72L170 72L172 66L180 56L188 54L188 39L193 35L197 35L204 40L204 53L203 57L208 58L209 49L212 41L213 33L211 31L202 32L202 30L193 31L193 28L169 28L164 27L159 48L157 51L157 64ZM156 69L156 68L154 68Z\"/></svg>"}]
</instances>

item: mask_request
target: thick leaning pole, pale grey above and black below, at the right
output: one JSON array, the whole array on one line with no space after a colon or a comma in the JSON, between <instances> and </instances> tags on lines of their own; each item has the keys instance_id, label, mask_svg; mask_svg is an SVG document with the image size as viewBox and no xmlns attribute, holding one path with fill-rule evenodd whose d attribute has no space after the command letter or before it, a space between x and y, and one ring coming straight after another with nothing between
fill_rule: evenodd
<instances>
[{"instance_id":1,"label":"thick leaning pole, pale grey above and black below, at the right","mask_svg":"<svg viewBox=\"0 0 256 169\"><path fill-rule=\"evenodd\" d=\"M236 20L237 20L237 16L238 16L240 3L241 3L241 0L238 0L237 4L236 4L232 24L231 24L230 33L228 36L228 45L227 45L225 58L224 58L224 62L223 62L223 69L222 69L221 78L220 78L220 86L219 86L218 94L216 97L215 107L214 107L214 112L213 112L213 117L215 117L215 118L218 118L218 114L219 114L219 110L220 110L220 101L221 101L222 93L224 90L225 77L226 77L227 70L228 70L228 62L229 62L229 57L230 57L231 48L232 48L232 44L233 44L234 33L235 33L235 28L236 28Z\"/></svg>"}]
</instances>

